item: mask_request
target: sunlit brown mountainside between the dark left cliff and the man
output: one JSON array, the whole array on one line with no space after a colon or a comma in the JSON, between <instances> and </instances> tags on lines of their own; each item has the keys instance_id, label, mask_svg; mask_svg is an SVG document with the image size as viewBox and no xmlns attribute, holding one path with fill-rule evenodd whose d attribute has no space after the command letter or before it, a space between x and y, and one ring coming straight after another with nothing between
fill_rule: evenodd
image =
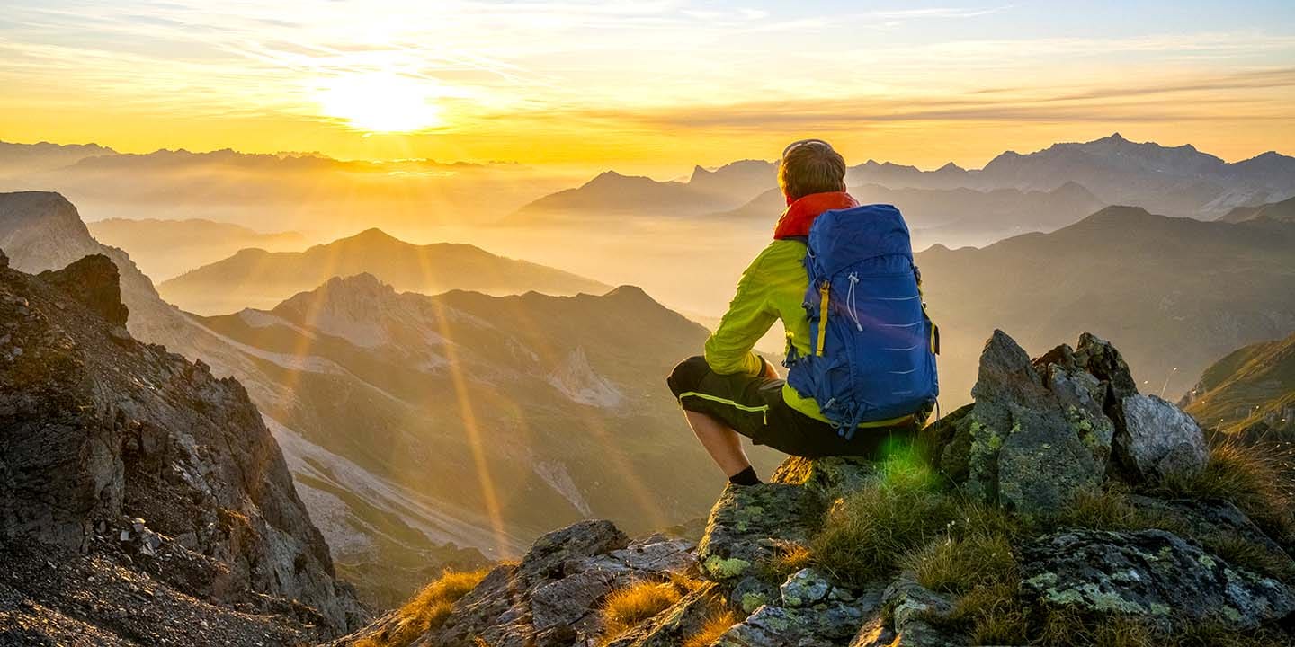
<instances>
[{"instance_id":1,"label":"sunlit brown mountainside between the dark left cliff and the man","mask_svg":"<svg viewBox=\"0 0 1295 647\"><path fill-rule=\"evenodd\" d=\"M707 333L638 289L426 296L361 274L199 324L256 366L242 379L372 595L425 577L409 537L510 556L558 523L663 528L714 496L663 386Z\"/></svg>"}]
</instances>

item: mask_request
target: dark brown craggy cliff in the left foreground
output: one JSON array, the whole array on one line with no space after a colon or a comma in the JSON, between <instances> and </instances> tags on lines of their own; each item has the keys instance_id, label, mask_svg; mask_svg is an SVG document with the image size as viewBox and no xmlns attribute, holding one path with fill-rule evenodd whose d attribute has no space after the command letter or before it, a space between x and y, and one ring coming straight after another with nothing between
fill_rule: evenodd
<instances>
[{"instance_id":1,"label":"dark brown craggy cliff in the left foreground","mask_svg":"<svg viewBox=\"0 0 1295 647\"><path fill-rule=\"evenodd\" d=\"M0 361L0 542L84 554L114 582L144 573L208 613L246 606L322 637L366 621L242 386L176 379L196 366L114 339L126 316L107 258L0 269L0 322L23 349Z\"/></svg>"}]
</instances>

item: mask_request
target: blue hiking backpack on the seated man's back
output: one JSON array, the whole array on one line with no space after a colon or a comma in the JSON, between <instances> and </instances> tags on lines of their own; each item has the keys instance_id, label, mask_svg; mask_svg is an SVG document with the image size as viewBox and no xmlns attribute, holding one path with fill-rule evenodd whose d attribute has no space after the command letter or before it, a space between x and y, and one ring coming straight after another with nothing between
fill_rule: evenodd
<instances>
[{"instance_id":1,"label":"blue hiking backpack on the seated man's back","mask_svg":"<svg viewBox=\"0 0 1295 647\"><path fill-rule=\"evenodd\" d=\"M925 415L940 392L939 331L904 216L890 204L825 211L807 245L811 353L789 344L787 383L846 439Z\"/></svg>"}]
</instances>

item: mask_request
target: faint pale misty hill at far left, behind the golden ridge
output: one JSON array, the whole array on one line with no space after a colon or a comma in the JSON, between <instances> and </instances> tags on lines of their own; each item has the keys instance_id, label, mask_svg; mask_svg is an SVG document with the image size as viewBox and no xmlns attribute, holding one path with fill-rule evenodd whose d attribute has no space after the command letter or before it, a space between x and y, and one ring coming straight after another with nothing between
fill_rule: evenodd
<instances>
[{"instance_id":1,"label":"faint pale misty hill at far left, behind the golden ridge","mask_svg":"<svg viewBox=\"0 0 1295 647\"><path fill-rule=\"evenodd\" d=\"M158 281L215 263L243 248L289 251L306 247L306 238L297 232L260 233L202 219L113 217L88 223L87 226L100 242L130 252L140 270Z\"/></svg>"}]
</instances>

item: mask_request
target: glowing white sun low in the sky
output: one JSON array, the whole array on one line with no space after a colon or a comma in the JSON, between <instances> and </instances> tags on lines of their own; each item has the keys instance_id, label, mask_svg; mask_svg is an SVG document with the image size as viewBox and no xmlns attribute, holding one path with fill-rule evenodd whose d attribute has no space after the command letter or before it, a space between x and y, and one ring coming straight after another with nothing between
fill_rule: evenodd
<instances>
[{"instance_id":1,"label":"glowing white sun low in the sky","mask_svg":"<svg viewBox=\"0 0 1295 647\"><path fill-rule=\"evenodd\" d=\"M436 100L444 88L398 74L356 74L329 79L316 101L325 115L369 132L414 132L443 124Z\"/></svg>"}]
</instances>

